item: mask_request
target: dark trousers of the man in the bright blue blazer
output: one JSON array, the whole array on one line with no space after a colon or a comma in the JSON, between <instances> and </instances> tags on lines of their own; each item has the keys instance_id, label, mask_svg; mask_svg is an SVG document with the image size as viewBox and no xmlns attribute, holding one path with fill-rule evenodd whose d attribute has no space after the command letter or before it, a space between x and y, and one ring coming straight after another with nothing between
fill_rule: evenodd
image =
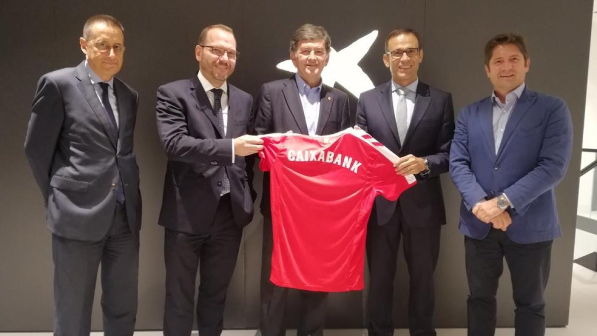
<instances>
[{"instance_id":1,"label":"dark trousers of the man in the bright blue blazer","mask_svg":"<svg viewBox=\"0 0 597 336\"><path fill-rule=\"evenodd\" d=\"M515 335L544 335L543 293L549 277L552 240L518 244L506 232L492 228L481 240L464 237L464 249L470 290L469 336L493 336L496 332L496 293L504 256L512 276Z\"/></svg>"}]
</instances>

